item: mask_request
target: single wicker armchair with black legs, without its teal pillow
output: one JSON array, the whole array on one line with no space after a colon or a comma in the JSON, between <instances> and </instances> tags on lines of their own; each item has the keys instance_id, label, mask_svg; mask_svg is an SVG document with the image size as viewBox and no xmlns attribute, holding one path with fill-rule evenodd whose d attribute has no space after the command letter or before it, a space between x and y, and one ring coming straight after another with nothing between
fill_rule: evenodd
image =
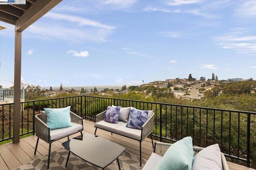
<instances>
[{"instance_id":1,"label":"single wicker armchair with black legs, without its teal pillow","mask_svg":"<svg viewBox=\"0 0 256 170\"><path fill-rule=\"evenodd\" d=\"M36 136L37 142L36 142L36 148L34 154L36 154L36 149L38 146L39 138L43 141L49 143L49 154L48 154L48 164L47 169L49 169L50 165L50 153L51 153L51 144L54 141L58 141L59 139L62 139L64 137L68 137L73 135L75 133L80 132L82 135L83 128L83 119L82 117L76 115L72 111L70 111L70 120L71 120L71 127L64 127L60 129L52 129L50 130L50 127L46 125L46 119L47 115L45 111L40 111L40 114L35 115L35 121L36 121Z\"/></svg>"}]
</instances>

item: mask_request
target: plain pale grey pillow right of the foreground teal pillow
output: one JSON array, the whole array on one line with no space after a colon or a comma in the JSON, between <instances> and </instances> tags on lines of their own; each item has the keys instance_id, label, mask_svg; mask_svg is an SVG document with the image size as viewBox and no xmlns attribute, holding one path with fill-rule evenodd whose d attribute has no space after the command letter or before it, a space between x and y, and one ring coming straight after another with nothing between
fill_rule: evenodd
<instances>
[{"instance_id":1,"label":"plain pale grey pillow right of the foreground teal pillow","mask_svg":"<svg viewBox=\"0 0 256 170\"><path fill-rule=\"evenodd\" d=\"M219 145L210 145L198 152L198 154L194 156L192 170L222 170Z\"/></svg>"}]
</instances>

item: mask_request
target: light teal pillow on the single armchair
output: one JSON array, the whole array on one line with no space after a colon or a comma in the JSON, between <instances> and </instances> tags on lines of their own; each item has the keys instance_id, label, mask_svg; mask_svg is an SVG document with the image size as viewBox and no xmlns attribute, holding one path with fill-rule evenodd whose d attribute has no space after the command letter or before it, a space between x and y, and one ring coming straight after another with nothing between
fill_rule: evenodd
<instances>
[{"instance_id":1,"label":"light teal pillow on the single armchair","mask_svg":"<svg viewBox=\"0 0 256 170\"><path fill-rule=\"evenodd\" d=\"M47 115L46 125L52 129L71 127L70 106L64 108L44 108Z\"/></svg>"}]
</instances>

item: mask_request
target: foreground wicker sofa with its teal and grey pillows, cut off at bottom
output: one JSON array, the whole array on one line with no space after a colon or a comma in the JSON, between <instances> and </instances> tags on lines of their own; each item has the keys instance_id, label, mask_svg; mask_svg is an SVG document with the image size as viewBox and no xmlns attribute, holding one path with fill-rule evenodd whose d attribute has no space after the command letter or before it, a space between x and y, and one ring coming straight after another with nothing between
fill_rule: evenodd
<instances>
[{"instance_id":1,"label":"foreground wicker sofa with its teal and grey pillows, cut off at bottom","mask_svg":"<svg viewBox=\"0 0 256 170\"><path fill-rule=\"evenodd\" d=\"M176 147L171 143L156 142L154 152L142 170L229 170L226 158L220 152L218 144L206 148L193 147L192 138L186 137L186 139L191 140L190 144L178 144L178 141L176 142L178 146L174 143ZM191 148L190 155L186 152L188 147Z\"/></svg>"}]
</instances>

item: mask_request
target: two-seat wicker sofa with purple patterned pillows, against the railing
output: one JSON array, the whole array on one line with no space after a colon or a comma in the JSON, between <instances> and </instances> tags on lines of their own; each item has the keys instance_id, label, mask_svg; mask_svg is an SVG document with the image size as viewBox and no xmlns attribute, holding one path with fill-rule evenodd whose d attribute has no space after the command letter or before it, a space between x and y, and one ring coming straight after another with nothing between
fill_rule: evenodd
<instances>
[{"instance_id":1,"label":"two-seat wicker sofa with purple patterned pillows, against the railing","mask_svg":"<svg viewBox=\"0 0 256 170\"><path fill-rule=\"evenodd\" d=\"M112 107L116 106L108 106L107 110L103 111L96 115L96 120L94 127L96 135L97 129L102 129L105 131L109 131L124 137L128 137L130 139L134 139L140 142L140 166L141 166L141 142L151 135L152 147L154 148L153 139L152 139L152 129L154 123L154 113L153 110L142 111L135 109L134 107L120 107L119 115L115 118L115 123L113 123L113 119L108 117L108 113L110 112L109 108L113 109ZM141 114L146 113L146 118L141 117ZM111 115L112 116L112 115ZM118 120L116 120L118 119ZM139 119L139 120L138 120ZM142 123L140 122L142 120ZM133 125L132 122L140 122L142 126L137 127ZM143 123L144 121L144 123ZM134 127L135 126L135 127ZM138 129L136 129L138 128Z\"/></svg>"}]
</instances>

